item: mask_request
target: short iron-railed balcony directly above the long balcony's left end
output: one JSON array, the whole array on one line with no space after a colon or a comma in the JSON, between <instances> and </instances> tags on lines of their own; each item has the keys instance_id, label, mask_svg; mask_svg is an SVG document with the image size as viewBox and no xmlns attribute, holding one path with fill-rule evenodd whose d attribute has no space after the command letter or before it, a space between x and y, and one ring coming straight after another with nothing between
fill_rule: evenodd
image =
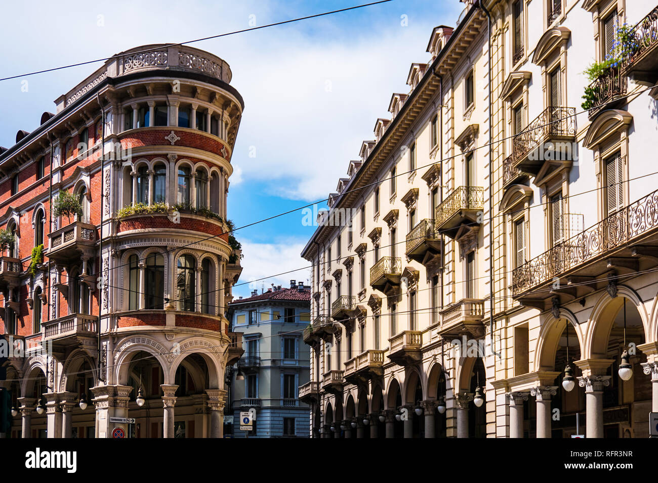
<instances>
[{"instance_id":1,"label":"short iron-railed balcony directly above the long balcony's left end","mask_svg":"<svg viewBox=\"0 0 658 483\"><path fill-rule=\"evenodd\" d=\"M513 167L537 175L546 160L572 160L576 141L576 109L551 106L512 140Z\"/></svg>"}]
</instances>

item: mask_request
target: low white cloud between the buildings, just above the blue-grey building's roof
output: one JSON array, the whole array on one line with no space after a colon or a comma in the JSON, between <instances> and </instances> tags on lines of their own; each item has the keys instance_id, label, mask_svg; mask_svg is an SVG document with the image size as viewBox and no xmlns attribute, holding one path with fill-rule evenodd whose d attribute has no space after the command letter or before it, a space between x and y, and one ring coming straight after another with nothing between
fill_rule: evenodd
<instances>
[{"instance_id":1,"label":"low white cloud between the buildings, just above the blue-grey building's roof","mask_svg":"<svg viewBox=\"0 0 658 483\"><path fill-rule=\"evenodd\" d=\"M255 243L248 240L240 240L242 244L243 258L241 264L243 267L238 287L233 289L233 296L248 297L251 290L257 289L261 293L261 288L267 290L274 285L290 287L290 280L303 281L305 284L311 278L311 269L309 262L301 258L299 254L304 248L305 242L299 239L291 239L276 243ZM288 272L290 273L284 273ZM275 273L284 273L276 277L270 277ZM269 277L265 280L263 277ZM249 282L247 284L247 282Z\"/></svg>"}]
</instances>

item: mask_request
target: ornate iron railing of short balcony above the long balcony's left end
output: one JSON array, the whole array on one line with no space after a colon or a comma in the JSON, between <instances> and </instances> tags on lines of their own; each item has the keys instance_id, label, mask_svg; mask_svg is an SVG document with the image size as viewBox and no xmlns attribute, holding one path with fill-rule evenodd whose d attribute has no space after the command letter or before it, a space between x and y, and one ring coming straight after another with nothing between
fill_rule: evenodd
<instances>
[{"instance_id":1,"label":"ornate iron railing of short balcony above the long balcony's left end","mask_svg":"<svg viewBox=\"0 0 658 483\"><path fill-rule=\"evenodd\" d=\"M552 137L576 135L576 108L551 106L534 118L512 141L514 162L528 157L532 150L543 149L542 144Z\"/></svg>"}]
</instances>

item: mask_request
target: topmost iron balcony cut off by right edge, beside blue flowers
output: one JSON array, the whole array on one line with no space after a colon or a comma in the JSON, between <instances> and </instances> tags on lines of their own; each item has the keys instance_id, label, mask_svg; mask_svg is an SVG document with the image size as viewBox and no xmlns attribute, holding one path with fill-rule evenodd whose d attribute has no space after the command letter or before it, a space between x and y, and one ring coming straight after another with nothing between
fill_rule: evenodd
<instances>
[{"instance_id":1,"label":"topmost iron balcony cut off by right edge, beside blue flowers","mask_svg":"<svg viewBox=\"0 0 658 483\"><path fill-rule=\"evenodd\" d=\"M626 61L626 75L651 87L658 81L658 7L635 26L636 51Z\"/></svg>"}]
</instances>

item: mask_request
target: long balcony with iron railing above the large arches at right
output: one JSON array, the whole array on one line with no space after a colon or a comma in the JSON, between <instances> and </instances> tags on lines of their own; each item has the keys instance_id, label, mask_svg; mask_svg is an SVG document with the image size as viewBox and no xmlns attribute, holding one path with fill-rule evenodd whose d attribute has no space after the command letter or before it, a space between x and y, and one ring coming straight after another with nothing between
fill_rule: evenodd
<instances>
[{"instance_id":1,"label":"long balcony with iron railing above the large arches at right","mask_svg":"<svg viewBox=\"0 0 658 483\"><path fill-rule=\"evenodd\" d=\"M658 264L657 212L658 190L553 246L513 271L513 296L548 310L547 298L564 303L605 287L608 274L653 267Z\"/></svg>"}]
</instances>

